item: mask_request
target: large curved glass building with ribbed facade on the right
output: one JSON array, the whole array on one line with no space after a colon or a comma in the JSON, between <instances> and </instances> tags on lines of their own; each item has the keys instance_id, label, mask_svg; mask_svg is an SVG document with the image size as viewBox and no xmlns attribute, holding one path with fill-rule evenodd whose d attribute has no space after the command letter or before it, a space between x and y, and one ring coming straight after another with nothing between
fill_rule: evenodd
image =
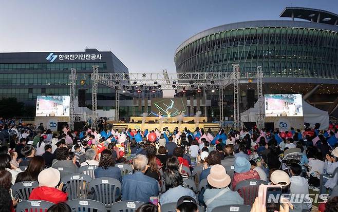
<instances>
[{"instance_id":1,"label":"large curved glass building with ribbed facade on the right","mask_svg":"<svg viewBox=\"0 0 338 212\"><path fill-rule=\"evenodd\" d=\"M190 37L175 52L177 72L232 71L238 63L241 83L248 84L244 79L262 66L265 93L312 92L311 103L317 101L316 94L325 94L328 107L336 104L338 15L287 7L280 17L291 20L226 24Z\"/></svg>"}]
</instances>

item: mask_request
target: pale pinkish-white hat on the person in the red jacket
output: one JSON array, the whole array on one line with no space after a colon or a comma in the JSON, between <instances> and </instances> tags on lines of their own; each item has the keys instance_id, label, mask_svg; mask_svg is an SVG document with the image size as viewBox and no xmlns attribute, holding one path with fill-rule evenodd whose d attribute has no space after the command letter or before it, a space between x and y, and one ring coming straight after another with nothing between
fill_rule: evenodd
<instances>
[{"instance_id":1,"label":"pale pinkish-white hat on the person in the red jacket","mask_svg":"<svg viewBox=\"0 0 338 212\"><path fill-rule=\"evenodd\" d=\"M46 168L37 176L39 186L55 187L60 182L60 171L55 168Z\"/></svg>"}]
</instances>

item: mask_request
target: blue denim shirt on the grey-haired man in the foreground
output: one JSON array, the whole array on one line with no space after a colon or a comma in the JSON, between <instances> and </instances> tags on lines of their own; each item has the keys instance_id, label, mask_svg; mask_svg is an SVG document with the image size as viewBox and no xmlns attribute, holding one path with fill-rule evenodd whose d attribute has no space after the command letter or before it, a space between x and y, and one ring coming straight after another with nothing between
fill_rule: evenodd
<instances>
[{"instance_id":1,"label":"blue denim shirt on the grey-haired man in the foreground","mask_svg":"<svg viewBox=\"0 0 338 212\"><path fill-rule=\"evenodd\" d=\"M141 171L126 175L122 180L122 200L149 202L149 198L158 196L158 182L145 176Z\"/></svg>"}]
</instances>

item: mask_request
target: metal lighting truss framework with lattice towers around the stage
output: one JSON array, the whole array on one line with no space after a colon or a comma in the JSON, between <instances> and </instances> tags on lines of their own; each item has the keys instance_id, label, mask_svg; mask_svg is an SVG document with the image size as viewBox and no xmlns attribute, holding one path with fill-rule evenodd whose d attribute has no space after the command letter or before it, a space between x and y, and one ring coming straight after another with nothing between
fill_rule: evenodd
<instances>
[{"instance_id":1,"label":"metal lighting truss framework with lattice towers around the stage","mask_svg":"<svg viewBox=\"0 0 338 212\"><path fill-rule=\"evenodd\" d=\"M130 91L137 90L177 90L181 92L184 90L219 90L219 114L220 125L224 123L224 106L223 106L223 89L233 85L234 89L234 127L241 126L240 110L239 110L239 80L240 80L240 67L239 64L233 64L233 70L229 72L187 72L187 73L167 73L162 70L162 73L98 73L98 67L93 66L91 74L92 80L92 101L90 117L92 128L97 128L97 95L98 84L105 85L116 90L116 115L115 121L119 121L119 108L120 108L120 94L130 95ZM71 73L72 75L72 73ZM263 95L262 95L262 78L263 73L261 66L257 67L257 75L252 76L250 79L257 79L257 94L259 103L259 114L257 117L257 126L262 127L264 124L264 111L263 111ZM71 77L69 77L71 79ZM70 81L71 86L71 101L75 99L75 80ZM73 88L73 89L72 89ZM72 92L73 90L73 92ZM73 98L72 98L73 97ZM74 107L74 104L70 104ZM74 111L74 108L70 111ZM134 109L133 109L134 111ZM70 116L70 123L74 123L75 115Z\"/></svg>"}]
</instances>

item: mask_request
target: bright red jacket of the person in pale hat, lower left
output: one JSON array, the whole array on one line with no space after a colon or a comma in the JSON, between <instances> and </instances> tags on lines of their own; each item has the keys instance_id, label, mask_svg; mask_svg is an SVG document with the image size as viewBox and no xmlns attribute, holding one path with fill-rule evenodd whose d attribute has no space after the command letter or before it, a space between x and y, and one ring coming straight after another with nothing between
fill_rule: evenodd
<instances>
[{"instance_id":1,"label":"bright red jacket of the person in pale hat, lower left","mask_svg":"<svg viewBox=\"0 0 338 212\"><path fill-rule=\"evenodd\" d=\"M36 187L32 190L29 200L44 200L58 204L60 202L67 201L67 193L62 192L59 189L51 188L47 186Z\"/></svg>"}]
</instances>

